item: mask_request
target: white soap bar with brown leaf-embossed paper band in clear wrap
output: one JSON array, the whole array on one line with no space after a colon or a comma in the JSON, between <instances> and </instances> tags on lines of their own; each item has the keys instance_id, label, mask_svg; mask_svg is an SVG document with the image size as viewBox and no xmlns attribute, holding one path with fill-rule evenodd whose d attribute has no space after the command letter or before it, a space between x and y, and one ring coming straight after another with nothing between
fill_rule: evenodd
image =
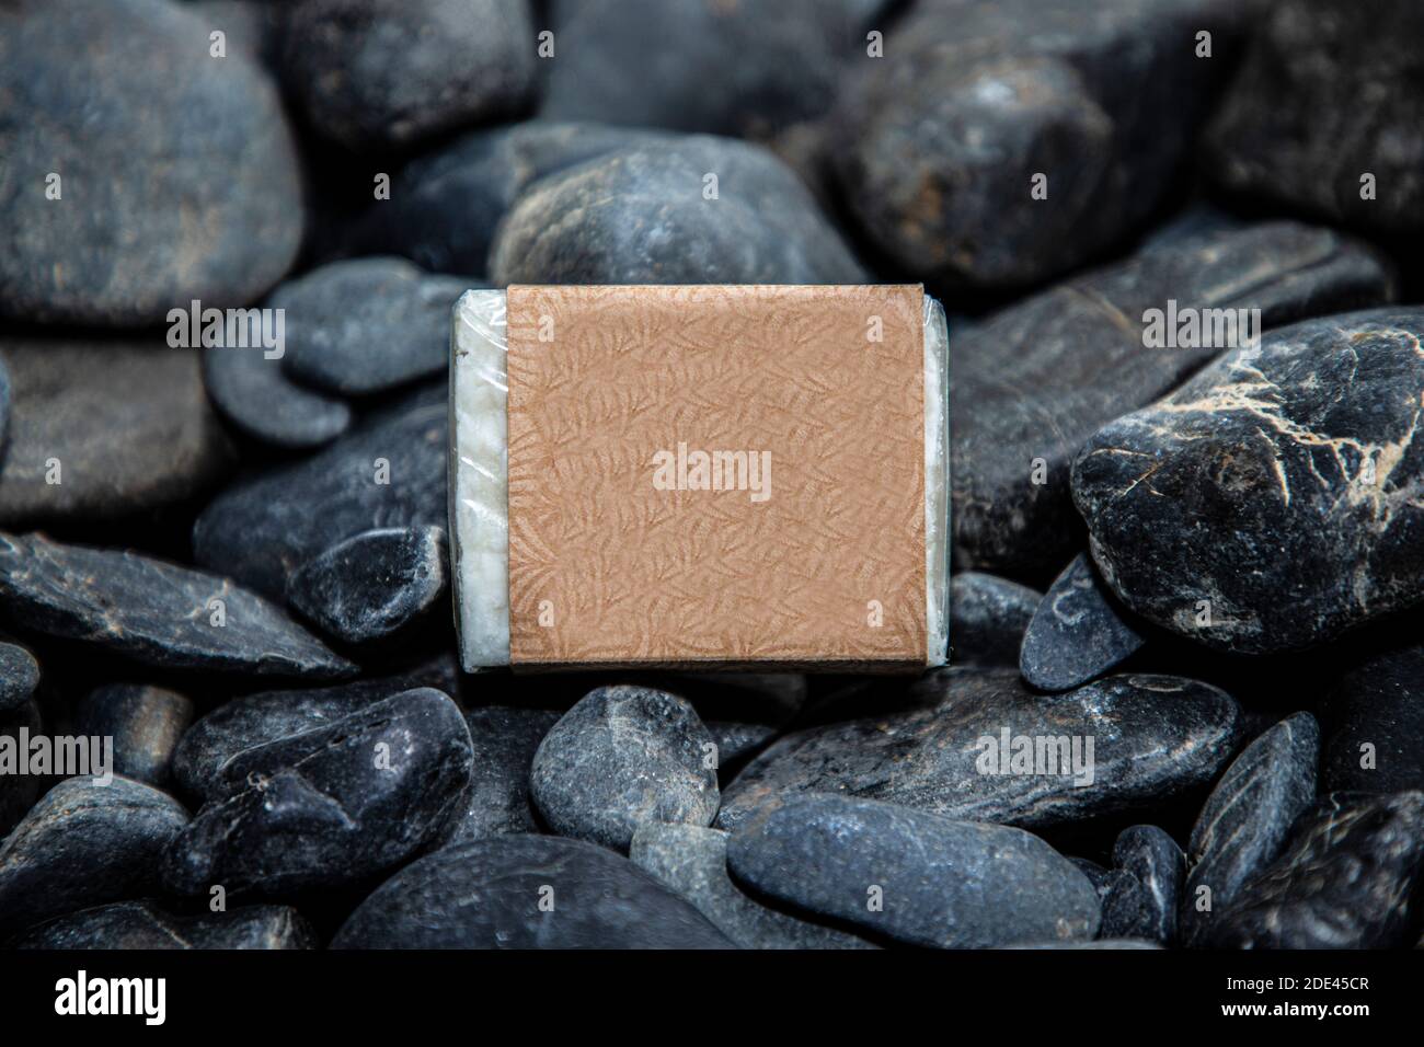
<instances>
[{"instance_id":1,"label":"white soap bar with brown leaf-embossed paper band in clear wrap","mask_svg":"<svg viewBox=\"0 0 1424 1047\"><path fill-rule=\"evenodd\" d=\"M464 668L943 664L947 393L920 286L466 292Z\"/></svg>"}]
</instances>

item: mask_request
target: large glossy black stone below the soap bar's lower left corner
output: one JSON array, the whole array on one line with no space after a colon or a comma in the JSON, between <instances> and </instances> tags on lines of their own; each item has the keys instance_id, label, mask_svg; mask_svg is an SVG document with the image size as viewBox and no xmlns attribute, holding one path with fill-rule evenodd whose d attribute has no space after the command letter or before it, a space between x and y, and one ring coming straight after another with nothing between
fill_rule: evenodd
<instances>
[{"instance_id":1,"label":"large glossy black stone below the soap bar's lower left corner","mask_svg":"<svg viewBox=\"0 0 1424 1047\"><path fill-rule=\"evenodd\" d=\"M245 749L168 848L164 882L179 895L222 885L228 897L359 883L437 836L470 764L464 718L433 688Z\"/></svg>"}]
</instances>

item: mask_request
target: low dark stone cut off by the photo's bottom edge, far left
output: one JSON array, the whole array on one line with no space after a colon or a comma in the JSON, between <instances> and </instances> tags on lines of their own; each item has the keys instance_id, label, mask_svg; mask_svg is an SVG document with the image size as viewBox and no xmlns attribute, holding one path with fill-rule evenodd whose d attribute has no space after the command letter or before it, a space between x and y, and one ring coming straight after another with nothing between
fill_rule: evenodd
<instances>
[{"instance_id":1,"label":"low dark stone cut off by the photo's bottom edge, far left","mask_svg":"<svg viewBox=\"0 0 1424 1047\"><path fill-rule=\"evenodd\" d=\"M152 902L115 902L61 916L9 942L10 949L316 949L316 933L285 905L184 916Z\"/></svg>"}]
</instances>

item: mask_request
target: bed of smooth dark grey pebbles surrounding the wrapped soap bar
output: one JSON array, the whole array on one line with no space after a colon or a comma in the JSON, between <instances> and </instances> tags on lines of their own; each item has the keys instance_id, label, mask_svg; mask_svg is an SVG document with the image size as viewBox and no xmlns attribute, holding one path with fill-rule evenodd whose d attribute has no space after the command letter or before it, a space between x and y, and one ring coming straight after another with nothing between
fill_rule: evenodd
<instances>
[{"instance_id":1,"label":"bed of smooth dark grey pebbles surrounding the wrapped soap bar","mask_svg":"<svg viewBox=\"0 0 1424 1047\"><path fill-rule=\"evenodd\" d=\"M1414 947L1421 236L1417 0L0 4L0 942ZM513 281L923 281L950 668L461 675Z\"/></svg>"}]
</instances>

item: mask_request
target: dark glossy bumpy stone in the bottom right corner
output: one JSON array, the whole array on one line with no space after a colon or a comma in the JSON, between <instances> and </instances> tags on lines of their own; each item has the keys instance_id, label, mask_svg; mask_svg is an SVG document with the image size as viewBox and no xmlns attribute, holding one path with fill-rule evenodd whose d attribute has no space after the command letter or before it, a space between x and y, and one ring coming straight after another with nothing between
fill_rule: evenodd
<instances>
[{"instance_id":1,"label":"dark glossy bumpy stone in the bottom right corner","mask_svg":"<svg viewBox=\"0 0 1424 1047\"><path fill-rule=\"evenodd\" d=\"M1215 919L1215 949L1394 949L1414 943L1408 899L1424 872L1424 793L1337 792Z\"/></svg>"}]
</instances>

